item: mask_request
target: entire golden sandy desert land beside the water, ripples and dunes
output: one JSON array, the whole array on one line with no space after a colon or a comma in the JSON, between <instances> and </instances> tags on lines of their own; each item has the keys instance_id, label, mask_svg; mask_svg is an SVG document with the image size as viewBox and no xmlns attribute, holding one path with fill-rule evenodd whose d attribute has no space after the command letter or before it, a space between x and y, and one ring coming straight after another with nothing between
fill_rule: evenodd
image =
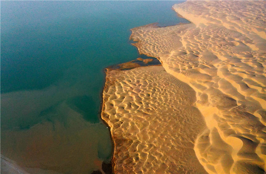
<instances>
[{"instance_id":1,"label":"entire golden sandy desert land beside the water, ripples and dunes","mask_svg":"<svg viewBox=\"0 0 266 174\"><path fill-rule=\"evenodd\" d=\"M140 59L106 69L113 172L265 173L266 1L172 8L191 23L149 24L130 36L161 66Z\"/></svg>"}]
</instances>

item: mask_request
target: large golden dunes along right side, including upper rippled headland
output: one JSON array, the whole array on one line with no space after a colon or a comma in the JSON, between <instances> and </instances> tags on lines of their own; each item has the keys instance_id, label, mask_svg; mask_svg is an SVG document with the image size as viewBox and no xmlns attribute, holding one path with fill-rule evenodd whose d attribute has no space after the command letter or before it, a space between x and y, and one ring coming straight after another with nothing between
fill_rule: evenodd
<instances>
[{"instance_id":1,"label":"large golden dunes along right side, including upper rippled headland","mask_svg":"<svg viewBox=\"0 0 266 174\"><path fill-rule=\"evenodd\" d=\"M187 1L173 6L190 24L132 29L140 53L196 92L207 129L195 152L209 173L264 173L265 1Z\"/></svg>"}]
</instances>

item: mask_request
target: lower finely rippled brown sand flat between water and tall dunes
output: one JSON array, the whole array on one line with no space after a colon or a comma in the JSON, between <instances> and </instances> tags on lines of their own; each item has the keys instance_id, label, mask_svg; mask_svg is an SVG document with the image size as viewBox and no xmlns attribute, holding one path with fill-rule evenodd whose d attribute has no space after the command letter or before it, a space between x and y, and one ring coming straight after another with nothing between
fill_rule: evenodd
<instances>
[{"instance_id":1,"label":"lower finely rippled brown sand flat between water and tall dunes","mask_svg":"<svg viewBox=\"0 0 266 174\"><path fill-rule=\"evenodd\" d=\"M186 83L162 66L110 70L103 99L114 173L206 173L193 150L206 124Z\"/></svg>"}]
</instances>

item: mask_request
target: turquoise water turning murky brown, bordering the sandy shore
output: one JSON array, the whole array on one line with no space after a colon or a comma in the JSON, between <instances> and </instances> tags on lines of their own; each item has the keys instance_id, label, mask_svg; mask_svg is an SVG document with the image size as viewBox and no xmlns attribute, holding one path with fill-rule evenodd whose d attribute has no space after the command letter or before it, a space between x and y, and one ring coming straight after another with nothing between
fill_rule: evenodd
<instances>
[{"instance_id":1,"label":"turquoise water turning murky brown, bordering the sandy shore","mask_svg":"<svg viewBox=\"0 0 266 174\"><path fill-rule=\"evenodd\" d=\"M47 161L66 152L73 161L87 160L89 167L79 168L88 172L110 160L109 130L99 119L103 69L139 57L131 28L188 22L171 10L175 3L1 1L1 154L56 172L71 172L77 162L69 169L64 161L43 165L44 153ZM60 150L51 152L42 141L51 148L61 143Z\"/></svg>"}]
</instances>

